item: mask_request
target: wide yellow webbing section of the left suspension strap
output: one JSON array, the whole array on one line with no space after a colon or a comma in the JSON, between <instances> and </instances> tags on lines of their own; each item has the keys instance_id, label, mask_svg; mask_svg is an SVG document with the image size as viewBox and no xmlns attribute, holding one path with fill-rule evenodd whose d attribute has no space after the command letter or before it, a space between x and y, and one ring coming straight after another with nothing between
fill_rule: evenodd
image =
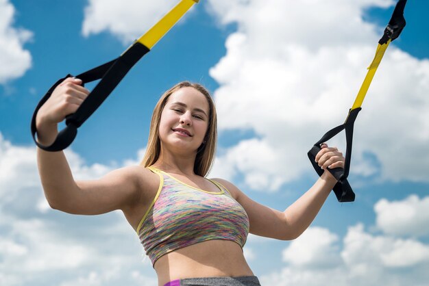
<instances>
[{"instance_id":1,"label":"wide yellow webbing section of the left suspension strap","mask_svg":"<svg viewBox=\"0 0 429 286\"><path fill-rule=\"evenodd\" d=\"M168 12L158 23L151 27L149 31L141 36L137 42L144 44L148 49L152 49L154 45L167 34L167 31L171 29L182 18L182 16L199 0L182 0L180 3Z\"/></svg>"}]
</instances>

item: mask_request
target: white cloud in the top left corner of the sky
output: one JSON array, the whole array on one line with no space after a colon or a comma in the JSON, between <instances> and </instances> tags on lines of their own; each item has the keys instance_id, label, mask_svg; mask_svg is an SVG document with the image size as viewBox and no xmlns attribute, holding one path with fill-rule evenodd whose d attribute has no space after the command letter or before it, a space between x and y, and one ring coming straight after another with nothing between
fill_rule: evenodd
<instances>
[{"instance_id":1,"label":"white cloud in the top left corner of the sky","mask_svg":"<svg viewBox=\"0 0 429 286\"><path fill-rule=\"evenodd\" d=\"M15 8L0 0L0 84L21 77L32 65L32 56L23 48L32 32L13 27Z\"/></svg>"}]
</instances>

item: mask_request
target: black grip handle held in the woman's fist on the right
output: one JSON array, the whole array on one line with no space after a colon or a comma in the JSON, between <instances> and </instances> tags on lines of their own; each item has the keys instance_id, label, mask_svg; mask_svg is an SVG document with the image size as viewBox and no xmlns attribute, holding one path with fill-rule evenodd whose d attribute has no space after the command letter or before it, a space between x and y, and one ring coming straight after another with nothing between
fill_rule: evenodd
<instances>
[{"instance_id":1,"label":"black grip handle held in the woman's fist on the right","mask_svg":"<svg viewBox=\"0 0 429 286\"><path fill-rule=\"evenodd\" d=\"M310 159L310 162L315 168L317 174L319 174L319 177L323 174L323 169L319 167L319 165L316 163L316 155L321 151L320 146L312 146L310 151L308 151L308 159ZM335 177L335 179L338 181L334 185L334 193L336 196L336 199L341 203L346 202L353 202L355 198L355 194L352 190L352 187L350 186L350 183L347 181L347 179L344 179L344 169L343 168L328 168L328 171L332 174L332 176Z\"/></svg>"}]
</instances>

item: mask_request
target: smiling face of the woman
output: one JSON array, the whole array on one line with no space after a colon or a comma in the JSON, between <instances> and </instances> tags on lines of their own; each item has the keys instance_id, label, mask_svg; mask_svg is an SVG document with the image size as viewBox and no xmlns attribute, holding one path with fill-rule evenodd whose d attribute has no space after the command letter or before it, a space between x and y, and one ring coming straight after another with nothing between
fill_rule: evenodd
<instances>
[{"instance_id":1,"label":"smiling face of the woman","mask_svg":"<svg viewBox=\"0 0 429 286\"><path fill-rule=\"evenodd\" d=\"M161 148L196 153L208 129L209 105L204 94L191 87L173 92L162 110Z\"/></svg>"}]
</instances>

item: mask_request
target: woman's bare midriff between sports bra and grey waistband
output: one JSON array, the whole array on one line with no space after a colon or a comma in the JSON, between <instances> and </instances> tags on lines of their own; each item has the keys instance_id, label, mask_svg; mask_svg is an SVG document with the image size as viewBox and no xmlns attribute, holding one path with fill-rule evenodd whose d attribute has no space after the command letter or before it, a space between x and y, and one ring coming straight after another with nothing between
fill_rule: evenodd
<instances>
[{"instance_id":1,"label":"woman's bare midriff between sports bra and grey waistband","mask_svg":"<svg viewBox=\"0 0 429 286\"><path fill-rule=\"evenodd\" d=\"M158 286L182 278L253 276L236 242L208 240L169 252L154 265Z\"/></svg>"}]
</instances>

